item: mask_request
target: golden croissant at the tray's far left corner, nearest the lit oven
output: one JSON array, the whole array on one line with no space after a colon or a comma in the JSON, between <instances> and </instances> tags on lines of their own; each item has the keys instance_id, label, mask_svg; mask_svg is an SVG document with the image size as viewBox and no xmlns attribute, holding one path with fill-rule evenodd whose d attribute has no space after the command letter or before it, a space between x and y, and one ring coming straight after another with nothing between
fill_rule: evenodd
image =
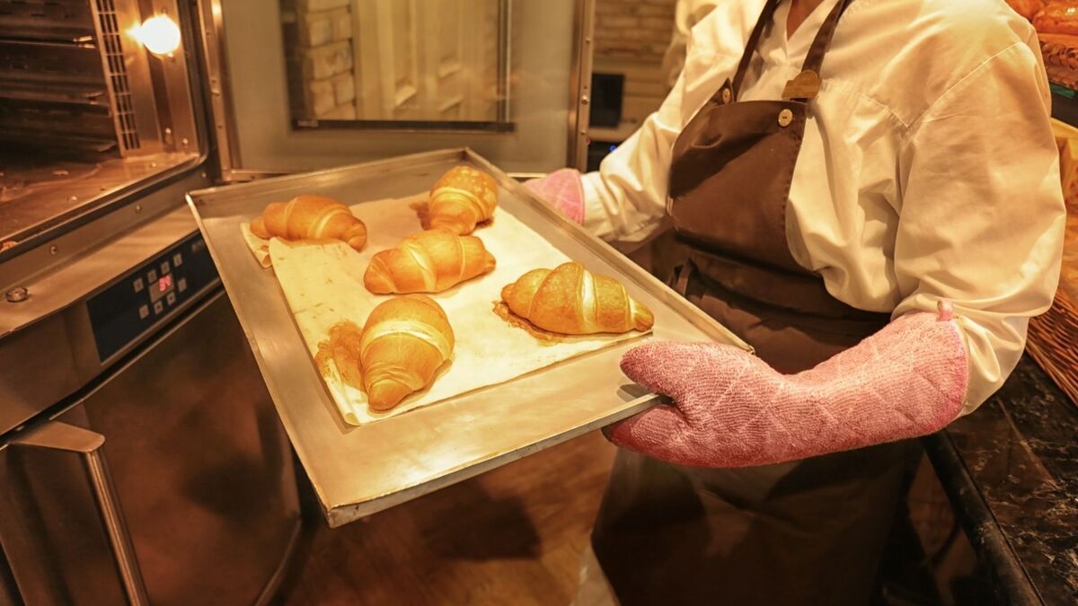
<instances>
[{"instance_id":1,"label":"golden croissant at the tray's far left corner, nearest the lit oven","mask_svg":"<svg viewBox=\"0 0 1078 606\"><path fill-rule=\"evenodd\" d=\"M367 225L344 204L323 195L304 194L275 202L251 221L260 238L338 239L356 250L367 244Z\"/></svg>"}]
</instances>

